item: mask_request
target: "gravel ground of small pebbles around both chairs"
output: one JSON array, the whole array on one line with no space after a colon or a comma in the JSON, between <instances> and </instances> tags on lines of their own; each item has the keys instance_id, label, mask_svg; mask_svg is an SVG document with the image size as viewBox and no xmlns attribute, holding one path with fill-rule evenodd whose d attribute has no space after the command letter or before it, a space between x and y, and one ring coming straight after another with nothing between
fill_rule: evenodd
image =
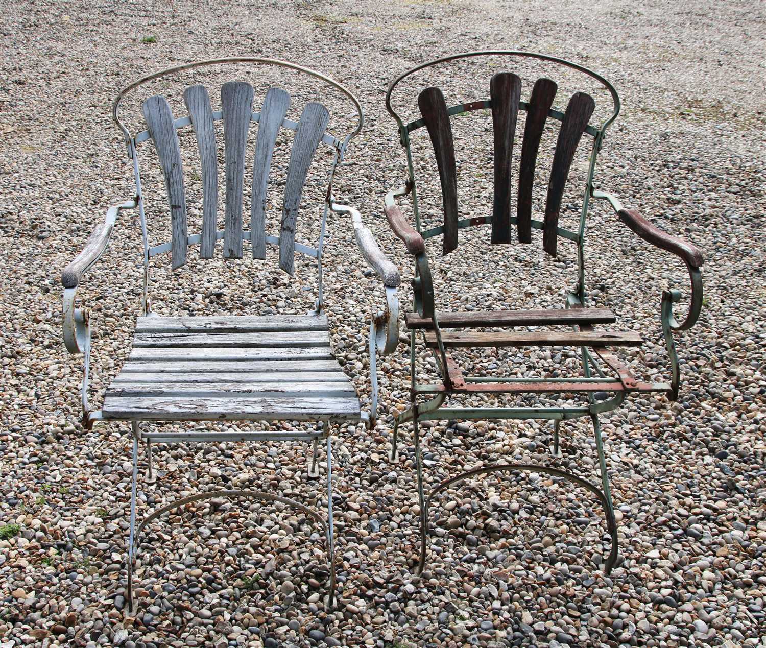
<instances>
[{"instance_id":1,"label":"gravel ground of small pebbles around both chairs","mask_svg":"<svg viewBox=\"0 0 766 648\"><path fill-rule=\"evenodd\" d=\"M764 7L587 4L0 2L0 525L11 525L0 539L0 646L766 645ZM429 570L414 576L417 497L406 430L398 466L386 457L391 413L407 399L402 346L381 371L377 429L336 434L335 611L320 598L326 572L316 529L270 506L213 500L149 529L139 613L123 617L129 429L80 427L80 358L61 343L59 288L61 269L106 207L132 191L110 123L114 94L145 71L224 54L283 57L347 83L368 124L337 192L365 214L406 282L411 265L381 214L383 194L404 178L382 108L386 83L428 58L486 47L561 55L612 80L624 113L607 137L598 184L705 251L705 307L679 342L682 397L633 398L604 419L621 519L618 568L610 577L601 571L604 525L588 494L532 475L478 480L444 498L433 513ZM488 79L450 75L451 96L479 98ZM457 121L491 140L486 119ZM417 147L427 151L423 141ZM464 213L486 213L488 157L463 148L458 156ZM429 177L425 187L434 185ZM437 214L434 191L423 195L426 215ZM659 377L660 292L685 286L684 269L637 241L605 206L590 223L598 234L588 247L593 301L646 332L647 346L627 362ZM556 263L545 263L538 245L488 258L481 236L444 262L434 254L444 303L561 305L571 248ZM463 231L461 241L468 238ZM93 312L96 404L129 350L138 246L136 220L126 217L82 291ZM328 257L333 346L366 403L365 330L372 305L382 303L380 285L365 275L340 218ZM306 306L298 284L252 263L190 263L175 283L163 272L153 291L161 313ZM506 358L519 371L575 368L564 349L463 359L492 371ZM561 464L592 476L591 430L578 423L566 431ZM550 461L550 433L545 424L436 421L425 438L428 480L497 460ZM161 478L142 486L143 512L178 493L231 485L323 503L300 445L160 447L156 461Z\"/></svg>"}]
</instances>

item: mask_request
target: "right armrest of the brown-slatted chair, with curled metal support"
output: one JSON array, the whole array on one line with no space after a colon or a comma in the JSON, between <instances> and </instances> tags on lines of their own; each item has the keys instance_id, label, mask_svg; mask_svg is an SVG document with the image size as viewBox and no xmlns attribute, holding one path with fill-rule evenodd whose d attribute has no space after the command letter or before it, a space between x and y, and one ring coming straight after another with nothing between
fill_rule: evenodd
<instances>
[{"instance_id":1,"label":"right armrest of the brown-slatted chair, with curled metal support","mask_svg":"<svg viewBox=\"0 0 766 648\"><path fill-rule=\"evenodd\" d=\"M689 304L689 313L686 314L686 319L679 324L676 318L673 316L671 303L677 302L680 298L678 291L665 291L663 293L663 328L667 327L672 331L685 331L691 329L695 325L697 319L699 319L699 313L702 310L702 273L699 268L702 267L703 257L702 252L695 245L684 241L682 238L672 236L662 231L660 227L647 221L643 218L635 209L626 209L620 203L620 201L611 195L607 191L594 190L591 194L594 198L602 198L609 201L614 211L617 213L617 218L621 222L630 228L647 243L652 244L654 247L659 247L662 250L666 250L671 254L675 254L686 263L686 268L689 270L689 280L692 283L692 297ZM672 293L672 299L671 299Z\"/></svg>"}]
</instances>

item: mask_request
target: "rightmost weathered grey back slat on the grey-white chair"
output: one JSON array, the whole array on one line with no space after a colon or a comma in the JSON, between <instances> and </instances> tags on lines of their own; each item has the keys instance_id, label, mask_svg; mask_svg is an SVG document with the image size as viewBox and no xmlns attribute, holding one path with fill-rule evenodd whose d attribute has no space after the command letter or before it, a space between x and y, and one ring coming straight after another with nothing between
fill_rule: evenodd
<instances>
[{"instance_id":1,"label":"rightmost weathered grey back slat on the grey-white chair","mask_svg":"<svg viewBox=\"0 0 766 648\"><path fill-rule=\"evenodd\" d=\"M295 229L298 220L300 198L303 195L303 185L306 183L306 173L319 144L319 138L327 128L329 113L321 103L310 102L301 113L298 128L293 140L293 150L290 152L290 163L287 165L285 181L285 199L280 227L280 268L286 273L293 274L295 257Z\"/></svg>"}]
</instances>

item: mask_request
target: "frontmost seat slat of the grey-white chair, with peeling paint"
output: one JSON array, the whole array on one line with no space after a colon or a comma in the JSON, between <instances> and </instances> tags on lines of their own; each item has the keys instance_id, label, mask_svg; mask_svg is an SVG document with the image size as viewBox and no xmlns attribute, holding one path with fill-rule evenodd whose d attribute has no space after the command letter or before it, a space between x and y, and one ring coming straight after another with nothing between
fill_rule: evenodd
<instances>
[{"instance_id":1,"label":"frontmost seat slat of the grey-white chair, with peeling paint","mask_svg":"<svg viewBox=\"0 0 766 648\"><path fill-rule=\"evenodd\" d=\"M105 398L103 417L123 421L357 421L354 398Z\"/></svg>"}]
</instances>

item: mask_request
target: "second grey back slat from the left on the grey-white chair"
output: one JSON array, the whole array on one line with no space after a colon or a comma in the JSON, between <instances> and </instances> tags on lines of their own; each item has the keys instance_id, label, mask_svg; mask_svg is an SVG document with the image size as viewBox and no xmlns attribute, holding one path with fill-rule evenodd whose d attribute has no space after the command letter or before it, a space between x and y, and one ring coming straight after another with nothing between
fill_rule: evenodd
<instances>
[{"instance_id":1,"label":"second grey back slat from the left on the grey-white chair","mask_svg":"<svg viewBox=\"0 0 766 648\"><path fill-rule=\"evenodd\" d=\"M197 150L202 171L202 238L199 256L211 259L215 252L218 225L218 147L215 145L213 110L205 86L186 88L184 103L197 136Z\"/></svg>"}]
</instances>

